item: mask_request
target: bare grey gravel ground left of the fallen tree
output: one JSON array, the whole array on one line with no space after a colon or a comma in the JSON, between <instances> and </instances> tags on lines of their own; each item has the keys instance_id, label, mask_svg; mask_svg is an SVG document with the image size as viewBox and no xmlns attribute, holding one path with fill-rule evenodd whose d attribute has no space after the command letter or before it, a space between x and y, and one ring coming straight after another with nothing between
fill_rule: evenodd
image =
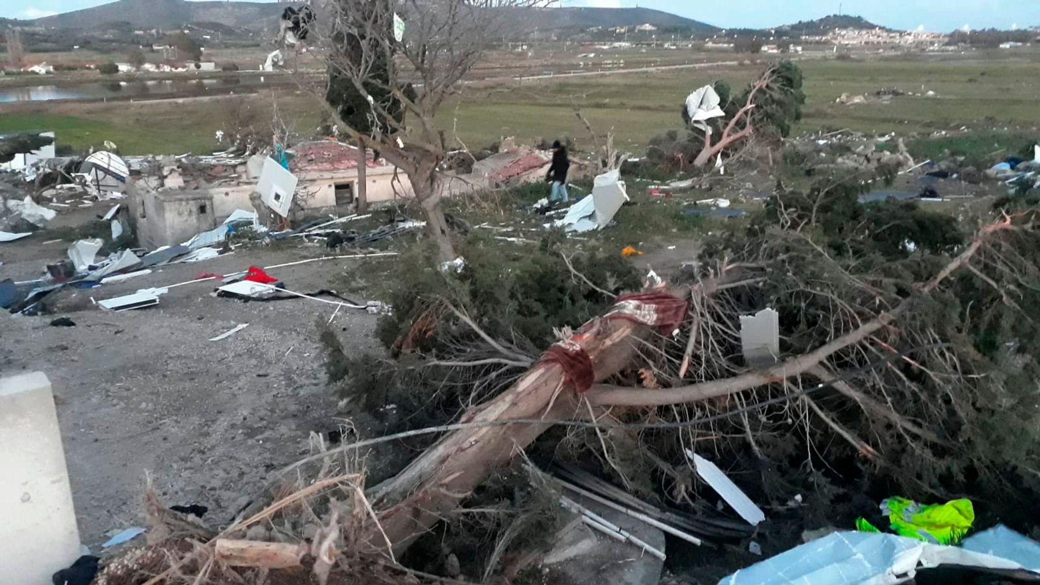
<instances>
[{"instance_id":1,"label":"bare grey gravel ground left of the fallen tree","mask_svg":"<svg viewBox=\"0 0 1040 585\"><path fill-rule=\"evenodd\" d=\"M64 256L68 243L43 235L0 245L0 280L34 278ZM233 255L162 266L153 274L78 291L66 312L28 317L0 312L0 373L41 371L54 387L84 544L139 526L146 473L167 505L202 504L224 524L263 486L269 472L309 451L309 435L338 426L326 385L318 324L335 306L301 299L242 303L213 296L213 282L171 288L156 307L127 312L95 300L139 288L319 257L320 248L239 249ZM328 288L330 277L365 262L324 260L271 274L296 291ZM392 261L392 260L391 260ZM357 299L367 301L369 299ZM80 310L76 310L80 309ZM69 316L76 327L51 327ZM333 327L347 351L376 352L376 316L340 310ZM249 327L209 341L239 324ZM379 429L359 429L372 436Z\"/></svg>"}]
</instances>

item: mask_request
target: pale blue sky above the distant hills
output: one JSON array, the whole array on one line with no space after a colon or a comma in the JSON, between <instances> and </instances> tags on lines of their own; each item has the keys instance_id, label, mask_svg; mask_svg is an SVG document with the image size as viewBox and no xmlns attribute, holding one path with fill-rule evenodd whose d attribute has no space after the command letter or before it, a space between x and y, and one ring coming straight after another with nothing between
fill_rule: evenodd
<instances>
[{"instance_id":1,"label":"pale blue sky above the distant hills","mask_svg":"<svg viewBox=\"0 0 1040 585\"><path fill-rule=\"evenodd\" d=\"M34 19L105 4L108 0L0 0L0 17ZM260 0L263 1L263 0ZM1040 26L1038 0L561 0L565 6L656 8L721 27L769 28L839 10L882 26L948 32L969 28Z\"/></svg>"}]
</instances>

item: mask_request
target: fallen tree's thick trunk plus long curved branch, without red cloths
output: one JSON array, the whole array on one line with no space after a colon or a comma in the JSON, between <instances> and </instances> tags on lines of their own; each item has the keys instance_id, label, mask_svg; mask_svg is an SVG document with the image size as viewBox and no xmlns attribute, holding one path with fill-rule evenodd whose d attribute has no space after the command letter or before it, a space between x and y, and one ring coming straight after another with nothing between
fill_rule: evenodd
<instances>
[{"instance_id":1,"label":"fallen tree's thick trunk plus long curved branch, without red cloths","mask_svg":"<svg viewBox=\"0 0 1040 585\"><path fill-rule=\"evenodd\" d=\"M972 256L985 246L986 239L1006 229L1012 229L1009 220L984 229L961 255L922 285L918 294L929 295L959 269L970 269ZM714 285L705 285L700 294L710 295L714 289ZM599 409L606 406L675 405L784 383L800 374L818 371L831 356L888 327L910 309L915 297L908 298L876 320L808 354L791 358L764 372L693 386L672 389L597 386L579 398L564 367L543 361L506 391L474 409L464 417L463 423L501 423L531 418L562 421L581 413L586 408L591 409L593 405ZM651 328L647 325L600 319L583 327L570 340L570 347L579 348L591 359L595 380L602 381L628 366L635 355L634 342L649 335L650 331ZM550 426L550 423L500 425L466 428L449 433L396 477L376 487L374 504L382 510L382 531L380 527L369 527L366 541L380 545L389 539L393 552L400 553L465 500L492 469L506 463Z\"/></svg>"}]
</instances>

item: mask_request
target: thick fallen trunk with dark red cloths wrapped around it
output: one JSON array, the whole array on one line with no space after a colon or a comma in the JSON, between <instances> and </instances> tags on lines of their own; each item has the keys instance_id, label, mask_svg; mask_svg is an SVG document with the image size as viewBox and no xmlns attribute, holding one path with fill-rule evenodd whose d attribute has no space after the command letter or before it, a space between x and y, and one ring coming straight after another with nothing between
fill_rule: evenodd
<instances>
[{"instance_id":1,"label":"thick fallen trunk with dark red cloths wrapped around it","mask_svg":"<svg viewBox=\"0 0 1040 585\"><path fill-rule=\"evenodd\" d=\"M462 423L534 418L547 421L545 425L457 430L376 486L371 499L383 510L380 522L394 552L404 551L440 522L493 468L508 463L548 430L552 421L578 414L578 392L588 387L580 387L586 377L587 383L594 383L614 376L635 356L638 340L654 327L669 331L678 327L684 312L685 301L659 290L622 297L606 316L551 348L513 386L462 418ZM374 543L383 535L369 529L365 537Z\"/></svg>"}]
</instances>

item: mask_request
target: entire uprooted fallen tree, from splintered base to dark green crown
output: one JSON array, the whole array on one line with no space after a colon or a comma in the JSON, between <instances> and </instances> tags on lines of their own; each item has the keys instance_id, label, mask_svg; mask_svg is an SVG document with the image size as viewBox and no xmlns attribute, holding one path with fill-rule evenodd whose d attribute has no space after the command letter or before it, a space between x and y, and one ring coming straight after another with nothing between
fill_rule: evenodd
<instances>
[{"instance_id":1,"label":"entire uprooted fallen tree, from splintered base to dark green crown","mask_svg":"<svg viewBox=\"0 0 1040 585\"><path fill-rule=\"evenodd\" d=\"M457 424L322 450L306 460L320 472L291 466L283 477L292 487L278 485L243 517L288 510L284 502L301 502L296 494L306 490L314 497L341 489L322 492L340 502L348 495L349 506L333 519L321 509L330 504L312 505L327 533L342 538L323 554L335 551L330 558L352 570L369 566L359 558L394 563L496 468L567 425L590 434L603 463L595 470L628 476L636 491L649 480L626 467L625 456L647 453L646 461L672 483L676 503L688 502L693 488L682 483L680 467L688 463L681 454L703 450L697 441L703 435L714 437L718 456L734 465L744 450L779 461L803 450L810 469L814 461L865 459L864 473L898 480L911 497L1035 489L1035 477L1028 483L1038 455L1030 438L1037 425L1029 380L1040 349L1032 344L1036 324L1021 307L1040 300L1036 211L990 218L961 240L937 233L947 225L944 217L902 204L862 206L856 195L777 196L747 233L709 243L692 285L619 297ZM896 236L888 233L904 224ZM781 314L785 355L774 366L749 370L738 355L737 316L765 306ZM416 304L409 314L418 324L428 306ZM462 313L437 319L456 316ZM479 329L463 321L471 334ZM500 332L482 333L480 342L498 347L498 359L522 361L495 339ZM343 477L349 470L341 468L343 454L427 434L442 436L364 497L357 475L349 489L313 482ZM631 435L638 440L624 442ZM833 437L844 449L813 453L814 442ZM1002 486L1009 473L1025 483ZM809 478L827 481L815 470ZM216 554L215 542L207 546L194 554ZM270 563L288 565L301 551L232 543L239 552L229 553L227 546L234 562L246 563L270 555Z\"/></svg>"}]
</instances>

